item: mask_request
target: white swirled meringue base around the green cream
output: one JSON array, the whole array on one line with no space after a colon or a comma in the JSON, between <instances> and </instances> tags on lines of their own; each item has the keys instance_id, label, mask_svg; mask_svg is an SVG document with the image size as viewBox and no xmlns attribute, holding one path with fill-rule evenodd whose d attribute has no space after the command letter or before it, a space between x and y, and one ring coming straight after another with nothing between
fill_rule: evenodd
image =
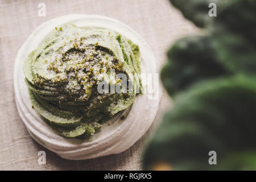
<instances>
[{"instance_id":1,"label":"white swirled meringue base around the green cream","mask_svg":"<svg viewBox=\"0 0 256 182\"><path fill-rule=\"evenodd\" d=\"M105 27L126 36L135 44L139 45L142 56L141 72L156 73L155 57L150 47L129 26L118 20L99 15L72 14L61 16L49 20L36 28L19 49L18 55L16 56L14 65L14 89L19 115L31 137L42 144L42 146L56 152L62 158L80 160L118 154L127 150L127 148L131 147L146 133L154 121L158 110L161 90L136 96L131 107L104 123L102 129L89 140L61 137L31 107L27 85L24 82L24 60L28 53L38 47L39 43L51 30L67 22L76 24L79 27ZM149 96L155 97L155 99L150 99Z\"/></svg>"}]
</instances>

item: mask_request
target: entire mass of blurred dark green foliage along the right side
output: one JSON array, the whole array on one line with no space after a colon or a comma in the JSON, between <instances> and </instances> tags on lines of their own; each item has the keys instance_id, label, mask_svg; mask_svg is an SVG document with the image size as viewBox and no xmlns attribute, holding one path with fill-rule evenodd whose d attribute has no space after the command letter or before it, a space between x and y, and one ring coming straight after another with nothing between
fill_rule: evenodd
<instances>
[{"instance_id":1,"label":"entire mass of blurred dark green foliage along the right side","mask_svg":"<svg viewBox=\"0 0 256 182\"><path fill-rule=\"evenodd\" d=\"M147 147L144 169L256 170L256 1L170 0L203 36L178 40L161 79L175 106ZM208 15L209 3L217 17ZM209 151L217 165L209 165Z\"/></svg>"}]
</instances>

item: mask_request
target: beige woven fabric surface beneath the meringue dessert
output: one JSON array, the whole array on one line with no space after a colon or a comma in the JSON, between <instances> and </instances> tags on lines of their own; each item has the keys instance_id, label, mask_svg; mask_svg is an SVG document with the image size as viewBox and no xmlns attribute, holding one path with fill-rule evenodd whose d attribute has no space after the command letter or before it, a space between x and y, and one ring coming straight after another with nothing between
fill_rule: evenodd
<instances>
[{"instance_id":1,"label":"beige woven fabric surface beneath the meringue dessert","mask_svg":"<svg viewBox=\"0 0 256 182\"><path fill-rule=\"evenodd\" d=\"M38 16L38 4L46 3L46 16ZM167 0L0 0L0 169L1 170L139 170L141 156L162 115L171 105L163 94L150 130L118 155L72 161L61 159L36 143L19 118L14 100L13 67L16 53L31 32L49 19L67 14L100 14L128 24L147 41L159 68L170 45L196 28ZM38 164L38 151L46 151L46 165Z\"/></svg>"}]
</instances>

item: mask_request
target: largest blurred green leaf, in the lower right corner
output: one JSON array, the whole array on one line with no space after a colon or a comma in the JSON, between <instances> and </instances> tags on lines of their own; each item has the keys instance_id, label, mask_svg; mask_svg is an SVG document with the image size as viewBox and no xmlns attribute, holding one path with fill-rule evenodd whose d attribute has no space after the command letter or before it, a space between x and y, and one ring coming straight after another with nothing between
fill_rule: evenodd
<instances>
[{"instance_id":1,"label":"largest blurred green leaf, in the lower right corner","mask_svg":"<svg viewBox=\"0 0 256 182\"><path fill-rule=\"evenodd\" d=\"M219 78L177 96L147 148L144 168L165 161L174 169L218 169L208 164L209 151L217 152L218 161L234 151L256 152L254 80Z\"/></svg>"}]
</instances>

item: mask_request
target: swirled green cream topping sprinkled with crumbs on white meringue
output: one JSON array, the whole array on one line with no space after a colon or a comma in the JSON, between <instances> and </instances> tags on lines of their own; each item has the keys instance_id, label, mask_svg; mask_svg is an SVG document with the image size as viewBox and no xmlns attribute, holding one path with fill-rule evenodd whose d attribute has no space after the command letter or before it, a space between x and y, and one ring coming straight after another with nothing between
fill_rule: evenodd
<instances>
[{"instance_id":1,"label":"swirled green cream topping sprinkled with crumbs on white meringue","mask_svg":"<svg viewBox=\"0 0 256 182\"><path fill-rule=\"evenodd\" d=\"M112 30L56 27L23 65L32 108L59 135L92 137L103 121L133 104L138 92L128 91L141 90L140 59L139 47ZM126 88L119 73L127 76ZM121 92L111 91L113 85Z\"/></svg>"}]
</instances>

